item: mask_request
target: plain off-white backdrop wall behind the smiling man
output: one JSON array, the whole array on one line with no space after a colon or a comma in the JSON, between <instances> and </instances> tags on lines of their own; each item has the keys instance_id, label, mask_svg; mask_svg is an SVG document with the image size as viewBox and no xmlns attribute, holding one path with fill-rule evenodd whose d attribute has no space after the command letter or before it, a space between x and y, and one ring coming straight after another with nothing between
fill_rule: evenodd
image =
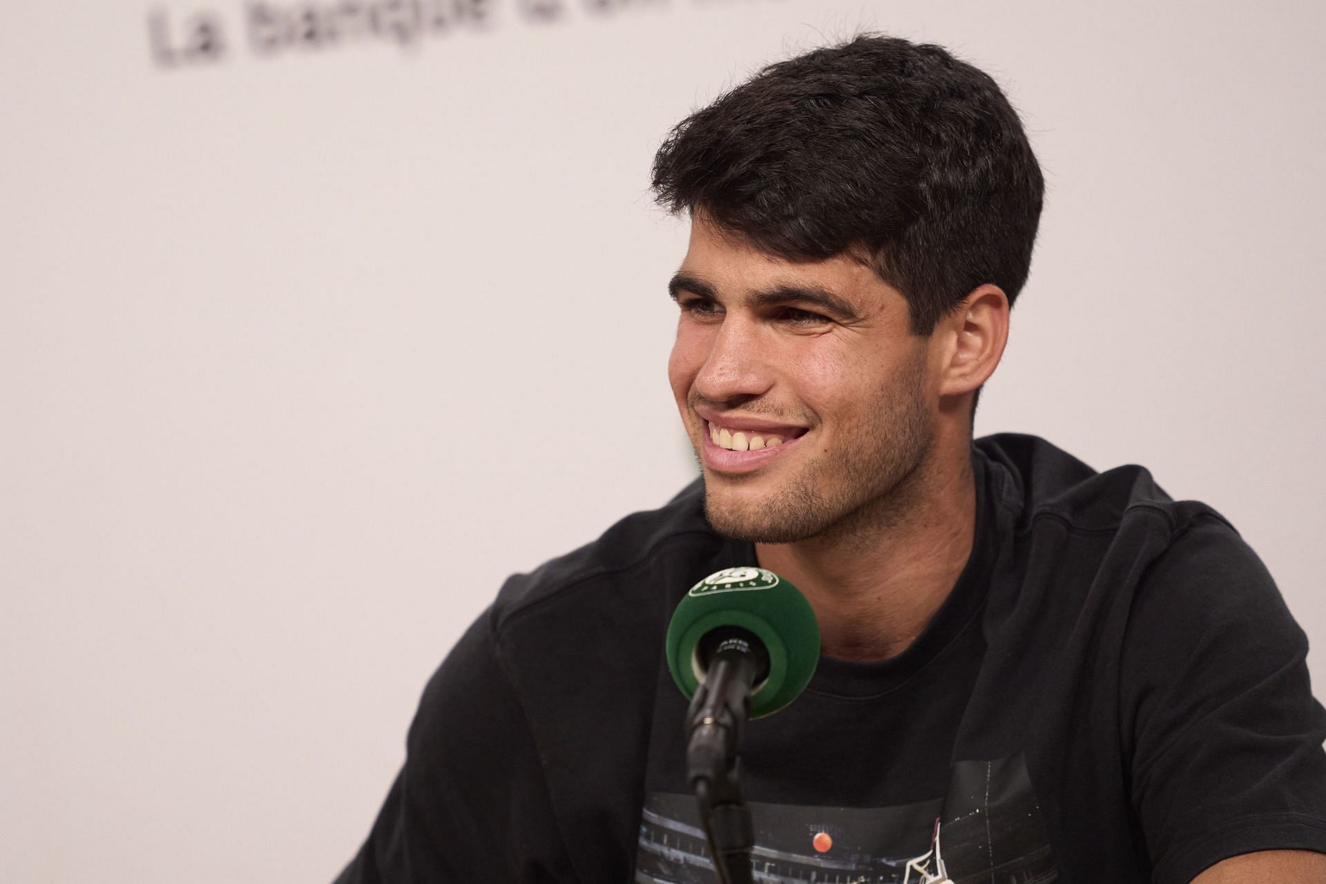
<instances>
[{"instance_id":1,"label":"plain off-white backdrop wall behind the smiling man","mask_svg":"<svg viewBox=\"0 0 1326 884\"><path fill-rule=\"evenodd\" d=\"M363 5L7 4L7 880L334 876L501 579L693 474L655 147L859 28L994 74L1046 172L979 432L1213 504L1326 679L1319 4Z\"/></svg>"}]
</instances>

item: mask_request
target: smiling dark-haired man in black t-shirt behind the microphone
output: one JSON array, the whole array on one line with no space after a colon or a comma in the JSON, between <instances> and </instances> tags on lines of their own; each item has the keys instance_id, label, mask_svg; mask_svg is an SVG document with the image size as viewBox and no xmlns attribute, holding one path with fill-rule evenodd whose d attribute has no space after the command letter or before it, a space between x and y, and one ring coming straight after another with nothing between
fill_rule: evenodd
<instances>
[{"instance_id":1,"label":"smiling dark-haired man in black t-shirt behind the microphone","mask_svg":"<svg viewBox=\"0 0 1326 884\"><path fill-rule=\"evenodd\" d=\"M712 880L663 636L760 565L823 641L745 733L764 880L1326 881L1326 713L1256 555L1140 468L972 441L1042 192L994 82L815 50L680 123L654 186L692 223L703 478L503 587L341 880Z\"/></svg>"}]
</instances>

